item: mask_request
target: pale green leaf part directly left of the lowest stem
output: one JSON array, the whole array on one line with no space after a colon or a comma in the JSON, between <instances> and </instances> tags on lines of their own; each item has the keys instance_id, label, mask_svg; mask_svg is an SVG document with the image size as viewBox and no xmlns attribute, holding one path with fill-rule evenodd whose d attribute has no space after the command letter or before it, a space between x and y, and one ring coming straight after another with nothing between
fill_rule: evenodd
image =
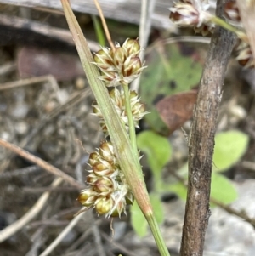
<instances>
[{"instance_id":1,"label":"pale green leaf part directly left of the lowest stem","mask_svg":"<svg viewBox=\"0 0 255 256\"><path fill-rule=\"evenodd\" d=\"M144 214L141 212L139 205L136 201L133 202L131 207L131 224L133 230L140 237L146 236L148 230L148 223L144 218Z\"/></svg>"}]
</instances>

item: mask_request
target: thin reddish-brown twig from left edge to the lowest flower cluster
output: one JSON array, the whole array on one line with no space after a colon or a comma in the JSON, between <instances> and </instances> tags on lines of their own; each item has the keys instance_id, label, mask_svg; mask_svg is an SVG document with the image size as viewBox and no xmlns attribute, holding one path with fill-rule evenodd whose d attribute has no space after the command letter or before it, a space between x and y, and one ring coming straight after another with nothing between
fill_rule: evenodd
<instances>
[{"instance_id":1,"label":"thin reddish-brown twig from left edge to the lowest flower cluster","mask_svg":"<svg viewBox=\"0 0 255 256\"><path fill-rule=\"evenodd\" d=\"M10 151L13 151L14 153L16 153L18 155L26 158L27 160L34 162L41 168L47 170L49 173L59 176L60 178L64 179L66 182L68 182L70 185L77 187L77 189L83 188L82 184L77 182L76 179L73 179L71 176L69 176L69 175L65 174L64 172L62 172L61 170L59 170L59 168L55 168L53 165L49 164L48 162L43 161L41 158L31 155L31 153L21 149L19 146L13 145L4 139L0 139L0 145L2 145L3 147L7 148Z\"/></svg>"}]
</instances>

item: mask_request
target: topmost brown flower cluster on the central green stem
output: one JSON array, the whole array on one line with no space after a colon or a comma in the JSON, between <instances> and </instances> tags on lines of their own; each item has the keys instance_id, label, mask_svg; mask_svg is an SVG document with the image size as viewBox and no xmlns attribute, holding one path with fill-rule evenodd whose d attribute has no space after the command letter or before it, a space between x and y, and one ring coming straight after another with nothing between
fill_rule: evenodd
<instances>
[{"instance_id":1,"label":"topmost brown flower cluster on the central green stem","mask_svg":"<svg viewBox=\"0 0 255 256\"><path fill-rule=\"evenodd\" d=\"M115 48L102 47L94 54L94 64L99 67L100 80L107 87L118 86L123 82L129 84L139 76L144 66L139 58L138 40L127 39L122 46L116 43Z\"/></svg>"}]
</instances>

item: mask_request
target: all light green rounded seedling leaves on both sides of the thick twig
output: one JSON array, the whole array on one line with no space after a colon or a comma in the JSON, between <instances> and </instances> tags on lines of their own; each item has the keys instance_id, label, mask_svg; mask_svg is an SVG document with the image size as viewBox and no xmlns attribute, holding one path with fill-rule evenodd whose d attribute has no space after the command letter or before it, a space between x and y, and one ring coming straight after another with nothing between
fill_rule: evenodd
<instances>
[{"instance_id":1,"label":"all light green rounded seedling leaves on both sides of the thick twig","mask_svg":"<svg viewBox=\"0 0 255 256\"><path fill-rule=\"evenodd\" d=\"M181 182L167 184L161 180L161 170L169 161L172 153L171 145L166 138L152 131L145 131L138 135L137 141L139 149L148 157L148 163L154 177L154 187L150 193L150 200L155 209L156 219L158 223L161 223L163 220L161 193L171 191L181 199L186 200L187 189ZM224 171L238 162L246 151L247 143L248 136L239 131L216 134L213 155L215 170ZM229 179L218 174L215 170L212 170L211 197L224 204L234 202L237 197L235 186ZM185 180L188 179L187 163L178 170L178 174L181 174ZM212 203L211 205L213 206ZM133 204L131 212L134 230L139 236L145 236L148 225L136 203Z\"/></svg>"}]
</instances>

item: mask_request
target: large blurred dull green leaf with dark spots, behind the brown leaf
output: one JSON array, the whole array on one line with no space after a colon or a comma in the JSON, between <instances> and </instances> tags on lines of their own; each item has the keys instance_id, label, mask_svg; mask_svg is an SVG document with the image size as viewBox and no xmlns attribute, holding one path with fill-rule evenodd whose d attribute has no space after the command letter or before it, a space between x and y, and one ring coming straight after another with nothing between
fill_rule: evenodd
<instances>
[{"instance_id":1,"label":"large blurred dull green leaf with dark spots, behind the brown leaf","mask_svg":"<svg viewBox=\"0 0 255 256\"><path fill-rule=\"evenodd\" d=\"M140 96L150 115L144 119L159 134L168 134L168 128L156 111L156 102L162 98L190 90L201 77L201 64L181 53L178 44L156 46L146 58L148 67L141 76ZM163 53L162 53L163 52Z\"/></svg>"}]
</instances>

